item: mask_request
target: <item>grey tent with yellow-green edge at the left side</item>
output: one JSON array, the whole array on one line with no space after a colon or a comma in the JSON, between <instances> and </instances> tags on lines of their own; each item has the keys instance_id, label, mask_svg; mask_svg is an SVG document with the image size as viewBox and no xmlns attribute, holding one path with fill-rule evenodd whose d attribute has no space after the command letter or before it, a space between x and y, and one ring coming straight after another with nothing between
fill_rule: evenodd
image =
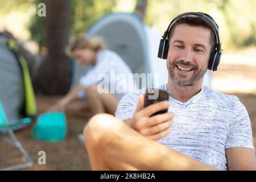
<instances>
[{"instance_id":1,"label":"grey tent with yellow-green edge at the left side","mask_svg":"<svg viewBox=\"0 0 256 182\"><path fill-rule=\"evenodd\" d=\"M0 63L0 101L7 123L16 122L20 117L35 117L35 95L26 60L15 40L5 32L0 33Z\"/></svg>"}]
</instances>

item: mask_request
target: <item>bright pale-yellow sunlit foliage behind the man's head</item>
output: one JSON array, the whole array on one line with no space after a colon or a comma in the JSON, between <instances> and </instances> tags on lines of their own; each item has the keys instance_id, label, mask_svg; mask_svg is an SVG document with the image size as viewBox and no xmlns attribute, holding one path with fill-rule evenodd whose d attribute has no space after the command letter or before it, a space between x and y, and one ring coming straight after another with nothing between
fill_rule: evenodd
<instances>
[{"instance_id":1,"label":"bright pale-yellow sunlit foliage behind the man's head","mask_svg":"<svg viewBox=\"0 0 256 182\"><path fill-rule=\"evenodd\" d=\"M187 11L202 11L213 16L220 27L225 50L256 46L255 0L151 0L144 22L166 30L171 19Z\"/></svg>"}]
</instances>

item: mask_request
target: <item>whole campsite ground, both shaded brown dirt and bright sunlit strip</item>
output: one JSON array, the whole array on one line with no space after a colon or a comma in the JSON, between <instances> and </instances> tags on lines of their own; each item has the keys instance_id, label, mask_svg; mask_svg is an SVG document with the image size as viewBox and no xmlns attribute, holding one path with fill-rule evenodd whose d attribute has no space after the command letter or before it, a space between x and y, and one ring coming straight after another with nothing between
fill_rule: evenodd
<instances>
[{"instance_id":1,"label":"whole campsite ground, both shaded brown dirt and bright sunlit strip","mask_svg":"<svg viewBox=\"0 0 256 182\"><path fill-rule=\"evenodd\" d=\"M254 71L253 71L254 69ZM246 71L247 70L247 71ZM238 96L246 106L253 127L253 140L256 146L256 92L253 85L256 80L254 66L223 64L212 75L213 89ZM238 79L239 78L239 79ZM232 81L232 82L230 82ZM231 90L234 90L231 92ZM241 90L245 90L243 93ZM60 97L37 96L39 113L44 113L48 106ZM90 170L88 154L77 135L80 134L89 118L67 118L67 136L63 142L48 143L32 139L32 126L16 132L28 154L34 160L34 166L28 170ZM46 151L46 165L38 164L38 151ZM13 146L0 142L0 168L24 162L24 158Z\"/></svg>"}]
</instances>

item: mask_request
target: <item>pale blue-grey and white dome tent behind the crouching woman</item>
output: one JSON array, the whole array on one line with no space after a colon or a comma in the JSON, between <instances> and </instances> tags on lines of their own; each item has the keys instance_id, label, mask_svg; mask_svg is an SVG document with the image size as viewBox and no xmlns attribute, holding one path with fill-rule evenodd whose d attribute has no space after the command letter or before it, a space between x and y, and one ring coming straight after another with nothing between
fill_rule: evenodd
<instances>
[{"instance_id":1,"label":"pale blue-grey and white dome tent behind the crouching woman","mask_svg":"<svg viewBox=\"0 0 256 182\"><path fill-rule=\"evenodd\" d=\"M104 38L108 48L118 53L133 73L152 73L152 77L147 77L152 81L152 86L157 87L167 83L166 60L158 58L161 35L146 26L137 15L128 13L105 15L89 28L86 36ZM73 86L78 83L79 77L85 74L86 69L88 68L75 65ZM203 84L210 87L209 71L205 74ZM141 88L141 85L138 85L138 88Z\"/></svg>"}]
</instances>

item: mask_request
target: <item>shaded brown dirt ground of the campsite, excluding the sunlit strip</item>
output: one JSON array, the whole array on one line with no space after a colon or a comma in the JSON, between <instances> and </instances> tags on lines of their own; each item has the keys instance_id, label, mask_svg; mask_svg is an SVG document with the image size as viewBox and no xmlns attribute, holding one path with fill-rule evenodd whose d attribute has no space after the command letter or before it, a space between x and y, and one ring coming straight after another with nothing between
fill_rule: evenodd
<instances>
[{"instance_id":1,"label":"shaded brown dirt ground of the campsite, excluding the sunlit strip","mask_svg":"<svg viewBox=\"0 0 256 182\"><path fill-rule=\"evenodd\" d=\"M253 127L253 140L256 146L256 95L229 93L235 94L240 98L246 106ZM53 104L59 97L37 96L37 104L39 113L44 113L48 106ZM67 136L63 142L50 143L40 142L32 139L30 127L16 132L16 137L23 144L23 147L28 151L28 154L34 160L34 166L26 168L27 170L90 170L88 154L77 135L82 132L89 118L67 118ZM38 164L38 152L46 152L46 165ZM24 158L18 150L14 150L13 146L0 142L0 168L24 162Z\"/></svg>"}]
</instances>

